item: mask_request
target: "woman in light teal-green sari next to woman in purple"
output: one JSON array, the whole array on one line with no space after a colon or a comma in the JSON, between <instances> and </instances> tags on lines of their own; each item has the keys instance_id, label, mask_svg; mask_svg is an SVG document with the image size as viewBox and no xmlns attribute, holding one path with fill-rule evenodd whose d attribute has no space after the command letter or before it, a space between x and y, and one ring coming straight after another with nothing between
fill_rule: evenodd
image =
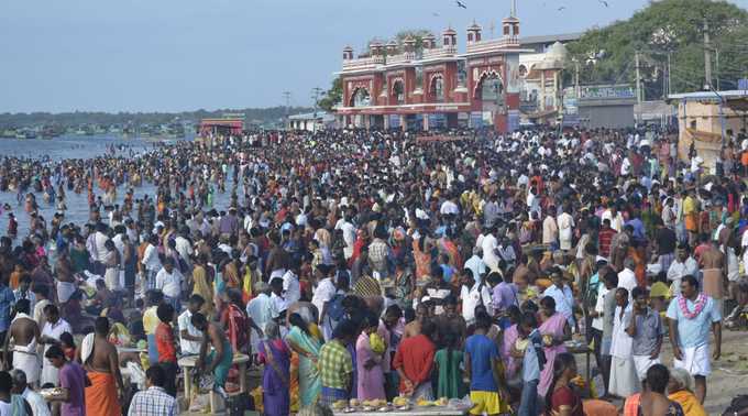
<instances>
[{"instance_id":1,"label":"woman in light teal-green sari next to woman in purple","mask_svg":"<svg viewBox=\"0 0 748 416\"><path fill-rule=\"evenodd\" d=\"M317 401L322 390L322 381L317 368L319 350L322 347L319 339L311 335L309 326L299 314L288 317L290 331L286 342L299 357L299 398L301 407L309 406Z\"/></svg>"}]
</instances>

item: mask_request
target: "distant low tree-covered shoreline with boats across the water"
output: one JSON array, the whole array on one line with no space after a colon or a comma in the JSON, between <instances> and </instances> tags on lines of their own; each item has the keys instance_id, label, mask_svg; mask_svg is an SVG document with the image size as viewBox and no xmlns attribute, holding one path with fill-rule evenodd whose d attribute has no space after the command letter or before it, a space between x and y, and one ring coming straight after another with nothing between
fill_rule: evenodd
<instances>
[{"instance_id":1,"label":"distant low tree-covered shoreline with boats across the water","mask_svg":"<svg viewBox=\"0 0 748 416\"><path fill-rule=\"evenodd\" d=\"M245 109L197 110L183 112L20 112L0 113L0 138L57 136L62 134L102 134L168 131L191 129L201 119L221 118L224 114L244 117L245 128L277 128L288 114L311 112L306 107L268 107ZM176 133L175 133L176 132ZM184 133L183 133L184 134Z\"/></svg>"}]
</instances>

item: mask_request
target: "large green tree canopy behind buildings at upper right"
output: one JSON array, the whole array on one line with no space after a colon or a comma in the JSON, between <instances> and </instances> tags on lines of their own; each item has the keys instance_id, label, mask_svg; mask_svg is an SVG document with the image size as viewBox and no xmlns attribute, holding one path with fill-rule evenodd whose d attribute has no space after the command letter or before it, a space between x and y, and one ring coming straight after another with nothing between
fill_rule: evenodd
<instances>
[{"instance_id":1,"label":"large green tree canopy behind buildings at upper right","mask_svg":"<svg viewBox=\"0 0 748 416\"><path fill-rule=\"evenodd\" d=\"M628 20L587 31L568 50L582 65L582 84L634 83L634 57L639 51L645 98L658 99L664 92L668 57L673 92L697 90L705 84L705 21L713 48L722 51L718 70L713 58L713 84L719 77L723 89L736 88L737 79L748 69L748 12L726 1L651 2Z\"/></svg>"}]
</instances>

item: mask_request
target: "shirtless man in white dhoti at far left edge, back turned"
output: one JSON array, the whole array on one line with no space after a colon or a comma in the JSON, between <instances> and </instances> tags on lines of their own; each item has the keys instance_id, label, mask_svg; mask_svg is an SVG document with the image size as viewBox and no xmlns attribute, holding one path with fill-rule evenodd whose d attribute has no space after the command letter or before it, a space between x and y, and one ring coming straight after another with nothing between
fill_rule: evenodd
<instances>
[{"instance_id":1,"label":"shirtless man in white dhoti at far left edge, back turned","mask_svg":"<svg viewBox=\"0 0 748 416\"><path fill-rule=\"evenodd\" d=\"M14 369L23 370L26 374L26 382L29 384L36 384L38 382L40 365L38 357L36 357L36 342L41 336L38 325L29 313L29 299L21 299L15 304L15 318L8 330L9 337L6 337L6 348L3 351L3 369L10 369L9 360L9 344L11 338L13 339L13 365Z\"/></svg>"}]
</instances>

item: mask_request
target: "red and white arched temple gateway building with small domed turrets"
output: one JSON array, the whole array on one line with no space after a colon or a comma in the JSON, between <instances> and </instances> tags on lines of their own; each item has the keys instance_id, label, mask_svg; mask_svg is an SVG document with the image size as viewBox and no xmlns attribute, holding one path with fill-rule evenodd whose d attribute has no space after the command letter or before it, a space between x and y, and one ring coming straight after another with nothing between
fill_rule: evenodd
<instances>
[{"instance_id":1,"label":"red and white arched temple gateway building with small domed turrets","mask_svg":"<svg viewBox=\"0 0 748 416\"><path fill-rule=\"evenodd\" d=\"M345 47L342 70L337 73L343 86L342 102L336 109L338 123L404 130L517 129L520 54L535 51L520 45L515 10L513 6L510 15L502 20L497 39L485 39L483 29L471 24L464 53L459 52L458 33L451 28L442 32L440 43L427 35L418 48L411 37L402 44L374 42L358 57L353 48ZM547 74L538 75L544 85Z\"/></svg>"}]
</instances>

